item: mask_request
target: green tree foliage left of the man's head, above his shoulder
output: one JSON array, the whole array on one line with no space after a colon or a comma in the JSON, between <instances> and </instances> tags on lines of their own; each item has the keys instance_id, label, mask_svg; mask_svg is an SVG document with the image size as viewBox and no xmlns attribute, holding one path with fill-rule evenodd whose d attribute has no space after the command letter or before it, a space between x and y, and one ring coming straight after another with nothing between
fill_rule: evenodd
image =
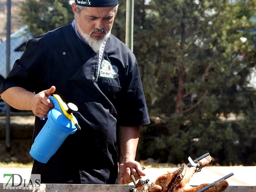
<instances>
[{"instance_id":1,"label":"green tree foliage left of the man's head, above his shoulder","mask_svg":"<svg viewBox=\"0 0 256 192\"><path fill-rule=\"evenodd\" d=\"M68 0L25 0L21 4L20 16L29 25L32 36L69 24L74 14Z\"/></svg>"}]
</instances>

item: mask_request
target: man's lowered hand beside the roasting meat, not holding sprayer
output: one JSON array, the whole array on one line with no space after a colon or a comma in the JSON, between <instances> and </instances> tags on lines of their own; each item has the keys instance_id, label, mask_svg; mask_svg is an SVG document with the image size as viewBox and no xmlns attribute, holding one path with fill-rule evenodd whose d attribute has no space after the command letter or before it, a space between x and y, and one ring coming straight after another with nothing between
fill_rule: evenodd
<instances>
[{"instance_id":1,"label":"man's lowered hand beside the roasting meat, not holding sprayer","mask_svg":"<svg viewBox=\"0 0 256 192\"><path fill-rule=\"evenodd\" d=\"M132 182L131 173L135 180L141 179L141 176L146 174L142 171L140 164L132 159L126 160L119 165L119 184L124 185Z\"/></svg>"}]
</instances>

